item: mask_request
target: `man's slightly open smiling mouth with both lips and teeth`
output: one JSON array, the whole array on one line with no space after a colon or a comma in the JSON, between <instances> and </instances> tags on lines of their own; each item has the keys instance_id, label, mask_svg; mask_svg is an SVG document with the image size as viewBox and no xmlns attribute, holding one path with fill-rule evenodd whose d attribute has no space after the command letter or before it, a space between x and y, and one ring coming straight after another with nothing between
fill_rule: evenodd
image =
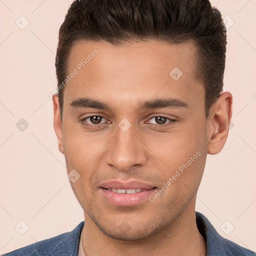
<instances>
[{"instance_id":1,"label":"man's slightly open smiling mouth with both lips and teeth","mask_svg":"<svg viewBox=\"0 0 256 256\"><path fill-rule=\"evenodd\" d=\"M156 186L139 181L113 180L99 186L103 200L119 206L133 206L145 202L155 190Z\"/></svg>"}]
</instances>

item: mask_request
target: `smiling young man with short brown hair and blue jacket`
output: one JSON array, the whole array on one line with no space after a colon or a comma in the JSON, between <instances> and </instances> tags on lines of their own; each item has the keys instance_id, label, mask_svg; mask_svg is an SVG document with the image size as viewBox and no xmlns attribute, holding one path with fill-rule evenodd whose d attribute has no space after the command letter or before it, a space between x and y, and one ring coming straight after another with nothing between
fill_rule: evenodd
<instances>
[{"instance_id":1,"label":"smiling young man with short brown hair and blue jacket","mask_svg":"<svg viewBox=\"0 0 256 256\"><path fill-rule=\"evenodd\" d=\"M71 4L52 101L84 221L5 255L255 255L195 212L232 114L221 21L207 0Z\"/></svg>"}]
</instances>

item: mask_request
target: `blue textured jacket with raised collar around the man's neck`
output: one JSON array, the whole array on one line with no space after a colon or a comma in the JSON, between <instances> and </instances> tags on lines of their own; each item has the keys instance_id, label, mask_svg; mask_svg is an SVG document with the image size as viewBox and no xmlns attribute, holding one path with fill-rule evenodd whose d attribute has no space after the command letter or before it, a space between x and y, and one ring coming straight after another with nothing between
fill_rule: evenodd
<instances>
[{"instance_id":1,"label":"blue textured jacket with raised collar around the man's neck","mask_svg":"<svg viewBox=\"0 0 256 256\"><path fill-rule=\"evenodd\" d=\"M220 236L209 220L195 212L199 232L206 241L207 256L256 256L256 253ZM84 221L71 232L38 241L3 254L4 256L77 256Z\"/></svg>"}]
</instances>

